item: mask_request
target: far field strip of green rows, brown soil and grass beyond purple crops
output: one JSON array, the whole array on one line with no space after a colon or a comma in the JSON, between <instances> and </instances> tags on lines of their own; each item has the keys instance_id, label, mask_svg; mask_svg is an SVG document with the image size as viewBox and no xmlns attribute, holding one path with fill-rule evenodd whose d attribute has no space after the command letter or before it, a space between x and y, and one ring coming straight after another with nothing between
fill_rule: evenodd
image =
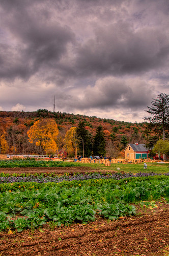
<instances>
[{"instance_id":1,"label":"far field strip of green rows, brown soil and grass beyond purple crops","mask_svg":"<svg viewBox=\"0 0 169 256\"><path fill-rule=\"evenodd\" d=\"M169 162L166 163L147 163L148 167L146 172L154 173L168 173ZM74 162L62 162L62 161L27 161L27 160L6 160L0 161L0 172L55 172L55 173L70 173L70 172L131 172L131 173L144 173L144 163L138 164L123 164L113 163L110 166L105 166L99 163L74 163Z\"/></svg>"}]
</instances>

